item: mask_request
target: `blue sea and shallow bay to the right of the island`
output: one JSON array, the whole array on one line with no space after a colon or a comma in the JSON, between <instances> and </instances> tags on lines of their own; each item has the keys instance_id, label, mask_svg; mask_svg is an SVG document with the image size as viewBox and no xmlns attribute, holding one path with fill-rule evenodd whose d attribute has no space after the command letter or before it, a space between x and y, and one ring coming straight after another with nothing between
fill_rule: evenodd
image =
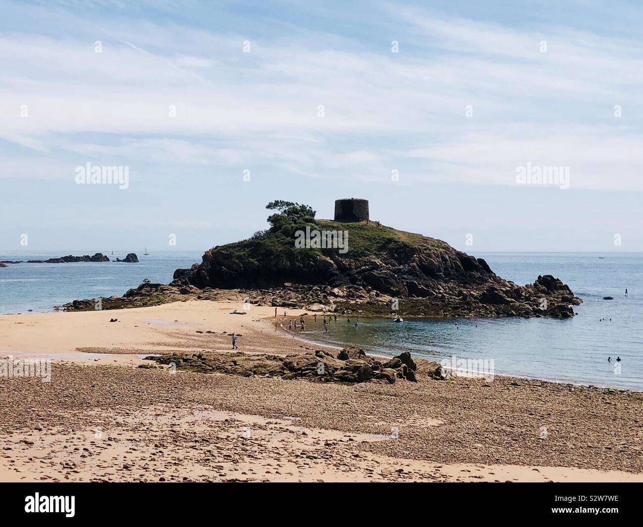
<instances>
[{"instance_id":1,"label":"blue sea and shallow bay to the right of the island","mask_svg":"<svg viewBox=\"0 0 643 527\"><path fill-rule=\"evenodd\" d=\"M401 350L431 360L494 361L495 374L643 391L643 254L476 254L518 284L552 274L583 299L578 315L554 319L340 319L309 337L382 355ZM599 259L599 256L604 259ZM624 297L628 288L628 297ZM612 296L614 300L602 300ZM600 319L606 319L599 322ZM610 321L611 319L611 321ZM607 358L620 356L620 373Z\"/></svg>"}]
</instances>

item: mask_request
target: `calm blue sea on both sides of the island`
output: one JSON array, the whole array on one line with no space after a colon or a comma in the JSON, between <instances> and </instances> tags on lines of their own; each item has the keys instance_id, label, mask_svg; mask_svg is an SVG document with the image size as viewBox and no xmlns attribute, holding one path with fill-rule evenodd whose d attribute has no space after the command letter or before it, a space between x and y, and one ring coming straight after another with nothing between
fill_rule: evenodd
<instances>
[{"instance_id":1,"label":"calm blue sea on both sides of the island","mask_svg":"<svg viewBox=\"0 0 643 527\"><path fill-rule=\"evenodd\" d=\"M73 255L94 254L77 250ZM10 264L0 269L0 313L51 311L74 299L122 295L143 279L168 283L203 251L151 252L140 263ZM69 254L69 251L65 252ZM126 252L107 254L110 259ZM308 324L309 337L354 344L382 355L408 350L442 361L493 360L494 374L643 391L643 254L474 253L501 277L524 285L552 274L583 299L573 319L345 319ZM62 252L0 254L0 260L48 259ZM628 297L624 296L628 288ZM602 300L604 296L613 300ZM601 321L601 319L603 319ZM610 320L611 319L611 320ZM0 344L1 347L1 344ZM613 362L608 363L608 356ZM622 359L619 367L615 359ZM490 363L489 363L490 364Z\"/></svg>"}]
</instances>

